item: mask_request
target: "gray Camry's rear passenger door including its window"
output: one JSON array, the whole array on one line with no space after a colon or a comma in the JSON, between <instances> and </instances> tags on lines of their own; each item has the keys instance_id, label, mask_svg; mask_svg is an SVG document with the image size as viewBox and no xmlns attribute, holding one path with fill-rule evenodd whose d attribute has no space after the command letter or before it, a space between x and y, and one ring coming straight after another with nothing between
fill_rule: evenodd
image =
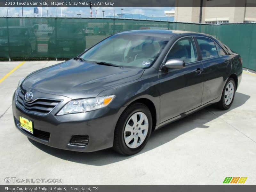
<instances>
[{"instance_id":1,"label":"gray Camry's rear passenger door including its window","mask_svg":"<svg viewBox=\"0 0 256 192\"><path fill-rule=\"evenodd\" d=\"M204 65L202 105L218 98L231 71L229 55L208 37L196 37Z\"/></svg>"}]
</instances>

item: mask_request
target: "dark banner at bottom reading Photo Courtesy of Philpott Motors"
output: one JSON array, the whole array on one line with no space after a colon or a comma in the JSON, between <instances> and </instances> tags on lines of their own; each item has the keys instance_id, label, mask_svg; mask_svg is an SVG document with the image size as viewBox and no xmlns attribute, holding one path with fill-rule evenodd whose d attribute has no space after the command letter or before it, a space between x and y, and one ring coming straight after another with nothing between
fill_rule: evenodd
<instances>
[{"instance_id":1,"label":"dark banner at bottom reading Photo Courtesy of Philpott Motors","mask_svg":"<svg viewBox=\"0 0 256 192\"><path fill-rule=\"evenodd\" d=\"M243 186L243 185L221 185L221 186L109 186L109 185L99 185L99 186L78 186L78 185L2 185L0 186L0 191L15 191L15 192L56 192L56 191L65 191L65 192L78 192L78 191L93 191L93 192L255 192L256 186Z\"/></svg>"}]
</instances>

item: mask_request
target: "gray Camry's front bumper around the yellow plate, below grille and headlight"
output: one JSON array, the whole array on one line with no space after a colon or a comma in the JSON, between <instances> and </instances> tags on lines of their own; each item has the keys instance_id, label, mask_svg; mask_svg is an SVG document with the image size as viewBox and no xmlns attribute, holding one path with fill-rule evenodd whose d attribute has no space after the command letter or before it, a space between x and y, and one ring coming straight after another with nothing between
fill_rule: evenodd
<instances>
[{"instance_id":1,"label":"gray Camry's front bumper around the yellow plate, below grille and headlight","mask_svg":"<svg viewBox=\"0 0 256 192\"><path fill-rule=\"evenodd\" d=\"M32 140L51 147L82 152L111 148L116 122L124 110L124 108L112 109L105 107L85 113L55 116L56 112L64 105L64 103L61 103L48 115L39 116L24 112L16 106L15 100L16 98L13 97L12 112L15 126L20 132ZM33 121L35 130L33 135L20 128L20 116ZM41 137L42 134L44 137ZM70 140L74 135L88 135L88 145L71 145Z\"/></svg>"}]
</instances>

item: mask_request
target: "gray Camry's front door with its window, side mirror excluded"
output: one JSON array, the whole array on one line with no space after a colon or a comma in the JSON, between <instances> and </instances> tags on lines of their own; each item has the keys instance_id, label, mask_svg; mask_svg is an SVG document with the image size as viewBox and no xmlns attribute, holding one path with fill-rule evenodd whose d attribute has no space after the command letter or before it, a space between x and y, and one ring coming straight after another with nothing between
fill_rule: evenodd
<instances>
[{"instance_id":1,"label":"gray Camry's front door with its window, side mirror excluded","mask_svg":"<svg viewBox=\"0 0 256 192\"><path fill-rule=\"evenodd\" d=\"M204 69L192 37L179 39L166 56L166 60L184 60L183 69L162 68L158 72L160 88L160 122L181 115L201 105ZM164 61L164 62L165 62Z\"/></svg>"}]
</instances>

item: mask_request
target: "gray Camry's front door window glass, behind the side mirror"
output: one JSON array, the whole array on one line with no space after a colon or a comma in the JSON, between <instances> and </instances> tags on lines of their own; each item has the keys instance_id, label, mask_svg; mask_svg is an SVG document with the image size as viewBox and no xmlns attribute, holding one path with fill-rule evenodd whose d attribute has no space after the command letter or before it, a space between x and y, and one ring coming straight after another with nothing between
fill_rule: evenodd
<instances>
[{"instance_id":1,"label":"gray Camry's front door window glass, behind the side mirror","mask_svg":"<svg viewBox=\"0 0 256 192\"><path fill-rule=\"evenodd\" d=\"M184 60L186 64L197 61L196 48L192 37L185 37L177 41L167 55L167 60Z\"/></svg>"}]
</instances>

